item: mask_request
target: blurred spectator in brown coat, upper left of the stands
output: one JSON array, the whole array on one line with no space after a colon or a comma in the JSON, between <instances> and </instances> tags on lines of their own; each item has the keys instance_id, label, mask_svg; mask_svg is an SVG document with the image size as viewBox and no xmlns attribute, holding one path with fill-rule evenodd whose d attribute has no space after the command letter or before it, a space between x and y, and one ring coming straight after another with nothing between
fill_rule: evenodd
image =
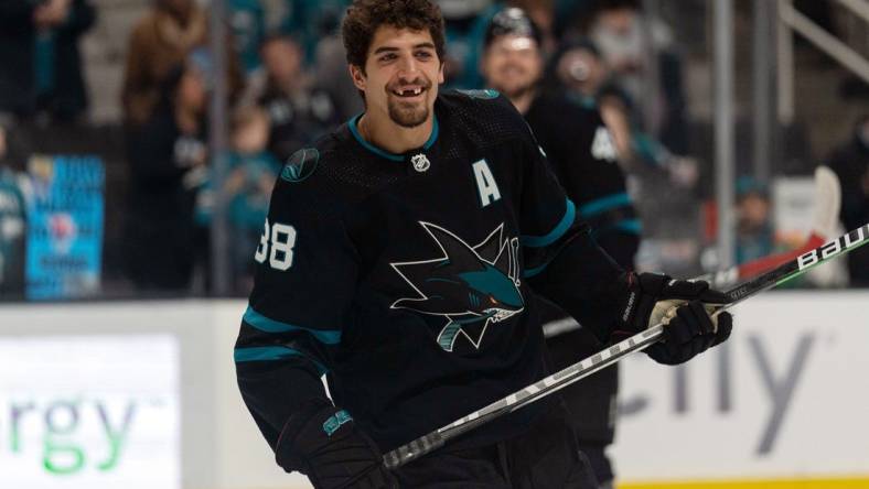
<instances>
[{"instance_id":1,"label":"blurred spectator in brown coat, upper left of the stands","mask_svg":"<svg viewBox=\"0 0 869 489\"><path fill-rule=\"evenodd\" d=\"M153 10L133 28L121 91L129 124L149 120L160 101L160 87L174 66L206 42L206 28L205 13L193 0L155 0Z\"/></svg>"}]
</instances>

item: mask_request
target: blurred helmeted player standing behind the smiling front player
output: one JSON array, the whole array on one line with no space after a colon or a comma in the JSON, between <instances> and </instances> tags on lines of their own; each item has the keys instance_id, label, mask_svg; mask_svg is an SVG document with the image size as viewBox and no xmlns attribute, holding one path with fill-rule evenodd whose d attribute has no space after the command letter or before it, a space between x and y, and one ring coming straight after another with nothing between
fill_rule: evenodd
<instances>
[{"instance_id":1,"label":"blurred helmeted player standing behind the smiling front player","mask_svg":"<svg viewBox=\"0 0 869 489\"><path fill-rule=\"evenodd\" d=\"M522 9L496 13L484 36L481 70L486 86L509 98L537 137L548 162L590 227L598 244L625 270L633 270L640 221L625 189L610 132L593 100L577 100L544 90L540 31ZM541 304L547 347L555 370L603 348L589 328L548 302ZM547 327L551 326L551 327ZM601 487L612 487L612 444L618 365L561 391L570 424Z\"/></svg>"}]
</instances>

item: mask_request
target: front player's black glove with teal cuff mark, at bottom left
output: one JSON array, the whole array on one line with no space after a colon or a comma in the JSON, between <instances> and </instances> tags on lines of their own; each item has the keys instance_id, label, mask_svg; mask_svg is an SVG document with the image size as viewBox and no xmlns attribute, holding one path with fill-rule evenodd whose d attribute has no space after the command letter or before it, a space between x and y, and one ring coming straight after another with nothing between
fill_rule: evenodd
<instances>
[{"instance_id":1,"label":"front player's black glove with teal cuff mark, at bottom left","mask_svg":"<svg viewBox=\"0 0 869 489\"><path fill-rule=\"evenodd\" d=\"M279 466L304 474L317 489L398 487L374 442L325 399L307 402L290 417L275 455Z\"/></svg>"}]
</instances>

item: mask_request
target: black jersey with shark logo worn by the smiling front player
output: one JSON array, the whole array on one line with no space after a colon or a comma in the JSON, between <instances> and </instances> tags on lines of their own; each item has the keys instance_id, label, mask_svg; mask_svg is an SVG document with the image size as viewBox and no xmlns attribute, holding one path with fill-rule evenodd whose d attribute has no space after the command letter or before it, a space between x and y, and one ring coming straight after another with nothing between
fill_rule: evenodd
<instances>
[{"instance_id":1,"label":"black jersey with shark logo worn by the smiling front player","mask_svg":"<svg viewBox=\"0 0 869 489\"><path fill-rule=\"evenodd\" d=\"M357 120L288 161L256 252L235 360L272 447L324 395L320 374L385 452L547 373L536 293L594 324L623 307L621 269L497 93L441 94L407 154L367 143ZM540 409L457 444L512 436Z\"/></svg>"}]
</instances>

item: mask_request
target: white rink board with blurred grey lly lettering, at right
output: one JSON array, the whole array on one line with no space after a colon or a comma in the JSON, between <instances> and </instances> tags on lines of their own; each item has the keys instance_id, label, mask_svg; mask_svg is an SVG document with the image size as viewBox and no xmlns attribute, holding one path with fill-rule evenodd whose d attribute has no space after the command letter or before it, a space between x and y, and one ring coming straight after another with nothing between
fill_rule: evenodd
<instances>
[{"instance_id":1,"label":"white rink board with blurred grey lly lettering, at right","mask_svg":"<svg viewBox=\"0 0 869 489\"><path fill-rule=\"evenodd\" d=\"M768 293L685 366L623 360L621 480L869 481L868 304L869 291Z\"/></svg>"}]
</instances>

